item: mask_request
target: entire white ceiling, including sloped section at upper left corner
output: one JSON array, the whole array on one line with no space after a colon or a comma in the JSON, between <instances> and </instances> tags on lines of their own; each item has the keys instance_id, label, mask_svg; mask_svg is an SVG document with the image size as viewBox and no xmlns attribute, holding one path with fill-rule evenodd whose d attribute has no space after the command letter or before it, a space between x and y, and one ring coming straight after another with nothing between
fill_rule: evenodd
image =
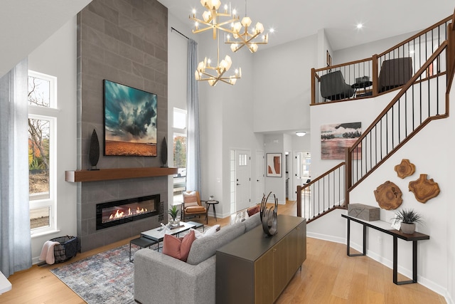
<instances>
[{"instance_id":1,"label":"entire white ceiling, including sloped section at upper left corner","mask_svg":"<svg viewBox=\"0 0 455 304\"><path fill-rule=\"evenodd\" d=\"M0 77L26 58L91 0L1 0ZM159 0L169 13L192 26L188 16L199 0ZM231 6L245 15L245 1ZM274 28L269 44L277 46L311 36L324 28L334 51L431 26L454 11L453 0L248 0L247 14L253 23ZM199 15L200 16L200 15ZM355 25L363 22L358 31Z\"/></svg>"}]
</instances>

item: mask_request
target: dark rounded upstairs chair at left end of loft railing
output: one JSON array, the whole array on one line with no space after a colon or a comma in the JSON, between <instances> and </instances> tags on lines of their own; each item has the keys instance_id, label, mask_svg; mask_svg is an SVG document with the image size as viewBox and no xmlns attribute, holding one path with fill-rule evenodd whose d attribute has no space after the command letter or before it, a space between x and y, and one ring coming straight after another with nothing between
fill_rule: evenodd
<instances>
[{"instance_id":1,"label":"dark rounded upstairs chair at left end of loft railing","mask_svg":"<svg viewBox=\"0 0 455 304\"><path fill-rule=\"evenodd\" d=\"M355 90L348 85L341 70L321 76L321 96L328 100L341 100L350 98Z\"/></svg>"}]
</instances>

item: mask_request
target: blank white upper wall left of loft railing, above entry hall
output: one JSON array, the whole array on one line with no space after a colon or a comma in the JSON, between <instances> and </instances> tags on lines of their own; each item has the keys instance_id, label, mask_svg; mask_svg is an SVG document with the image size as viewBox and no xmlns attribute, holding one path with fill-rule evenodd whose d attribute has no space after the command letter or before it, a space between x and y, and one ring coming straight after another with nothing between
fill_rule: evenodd
<instances>
[{"instance_id":1,"label":"blank white upper wall left of loft railing, above entry hall","mask_svg":"<svg viewBox=\"0 0 455 304\"><path fill-rule=\"evenodd\" d=\"M255 132L309 130L311 68L316 35L257 51L254 57Z\"/></svg>"}]
</instances>

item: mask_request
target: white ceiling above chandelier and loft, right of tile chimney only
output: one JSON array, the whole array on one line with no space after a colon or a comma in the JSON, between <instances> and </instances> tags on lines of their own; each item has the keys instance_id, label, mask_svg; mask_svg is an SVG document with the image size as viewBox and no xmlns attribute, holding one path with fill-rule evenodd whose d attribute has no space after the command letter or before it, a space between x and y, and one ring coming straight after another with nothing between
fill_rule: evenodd
<instances>
[{"instance_id":1,"label":"white ceiling above chandelier and loft, right of tile chimney only","mask_svg":"<svg viewBox=\"0 0 455 304\"><path fill-rule=\"evenodd\" d=\"M170 14L188 26L192 9L201 18L199 0L158 0ZM228 1L222 1L222 4ZM245 0L231 0L240 18L245 16ZM333 51L397 36L432 26L454 12L453 0L247 0L247 15L254 25L274 28L267 47L311 36L324 28ZM225 19L223 19L225 20ZM357 23L364 28L357 30ZM259 50L265 46L260 46Z\"/></svg>"}]
</instances>

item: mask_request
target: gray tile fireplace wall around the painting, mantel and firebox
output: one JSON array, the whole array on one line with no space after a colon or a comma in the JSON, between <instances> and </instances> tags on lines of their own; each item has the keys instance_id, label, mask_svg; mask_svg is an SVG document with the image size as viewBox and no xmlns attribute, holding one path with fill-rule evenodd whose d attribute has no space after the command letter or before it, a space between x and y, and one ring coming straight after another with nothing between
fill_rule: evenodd
<instances>
[{"instance_id":1,"label":"gray tile fireplace wall around the painting, mantel and firebox","mask_svg":"<svg viewBox=\"0 0 455 304\"><path fill-rule=\"evenodd\" d=\"M93 0L77 15L77 169L89 169L93 129L100 141L99 169L160 167L168 131L168 11L156 0ZM102 80L158 95L158 157L105 157ZM167 140L169 142L169 140ZM77 236L82 251L159 226L158 216L96 230L98 203L160 194L167 210L167 177L82 182L77 186Z\"/></svg>"}]
</instances>

